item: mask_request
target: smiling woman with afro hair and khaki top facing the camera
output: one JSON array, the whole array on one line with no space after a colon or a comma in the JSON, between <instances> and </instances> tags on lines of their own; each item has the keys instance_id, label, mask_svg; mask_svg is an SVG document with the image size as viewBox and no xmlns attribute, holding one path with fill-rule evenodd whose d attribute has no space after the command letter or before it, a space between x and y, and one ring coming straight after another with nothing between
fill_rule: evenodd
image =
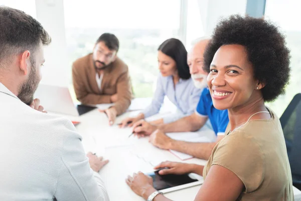
<instances>
[{"instance_id":1,"label":"smiling woman with afro hair and khaki top facing the camera","mask_svg":"<svg viewBox=\"0 0 301 201\"><path fill-rule=\"evenodd\" d=\"M281 125L264 105L284 93L289 58L269 21L234 15L216 26L204 69L213 105L228 110L229 125L204 167L200 198L215 186L228 197L216 200L293 200Z\"/></svg>"}]
</instances>

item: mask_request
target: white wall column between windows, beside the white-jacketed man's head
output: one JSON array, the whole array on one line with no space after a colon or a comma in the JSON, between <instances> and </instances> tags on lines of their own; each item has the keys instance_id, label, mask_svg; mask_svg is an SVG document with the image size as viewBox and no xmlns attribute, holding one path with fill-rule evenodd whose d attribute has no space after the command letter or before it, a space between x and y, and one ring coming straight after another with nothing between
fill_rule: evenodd
<instances>
[{"instance_id":1,"label":"white wall column between windows, beside the white-jacketed man's head","mask_svg":"<svg viewBox=\"0 0 301 201\"><path fill-rule=\"evenodd\" d=\"M36 0L37 20L52 38L45 48L41 83L68 86L67 46L63 0Z\"/></svg>"}]
</instances>

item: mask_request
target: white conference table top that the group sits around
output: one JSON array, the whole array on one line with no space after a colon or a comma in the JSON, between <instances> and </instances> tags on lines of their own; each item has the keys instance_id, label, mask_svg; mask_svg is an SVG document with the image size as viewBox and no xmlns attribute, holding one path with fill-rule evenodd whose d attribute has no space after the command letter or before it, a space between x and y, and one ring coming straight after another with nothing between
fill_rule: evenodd
<instances>
[{"instance_id":1,"label":"white conference table top that the group sits around","mask_svg":"<svg viewBox=\"0 0 301 201\"><path fill-rule=\"evenodd\" d=\"M118 117L116 122L120 122L127 116L129 113ZM86 113L77 120L81 122L76 129L83 137L85 151L95 152L98 156L109 159L109 163L100 170L99 174L104 180L111 201L144 200L125 183L127 175L132 175L133 172L150 172L154 165L166 160L206 164L206 160L196 158L181 161L170 151L156 148L148 143L148 138L137 139L133 136L128 138L131 134L130 128L119 129L116 124L109 126L106 115L98 110ZM165 196L172 200L194 200L199 188L200 185L166 193ZM301 200L301 191L294 188L294 196L294 200Z\"/></svg>"}]
</instances>

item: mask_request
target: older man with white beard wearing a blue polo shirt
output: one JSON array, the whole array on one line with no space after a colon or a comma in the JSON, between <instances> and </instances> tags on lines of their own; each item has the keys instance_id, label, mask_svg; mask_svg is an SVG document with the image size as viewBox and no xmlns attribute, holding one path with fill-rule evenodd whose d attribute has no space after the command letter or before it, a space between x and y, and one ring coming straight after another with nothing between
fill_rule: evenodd
<instances>
[{"instance_id":1,"label":"older man with white beard wearing a blue polo shirt","mask_svg":"<svg viewBox=\"0 0 301 201\"><path fill-rule=\"evenodd\" d=\"M193 45L188 53L187 63L195 86L204 88L196 112L176 122L159 126L140 120L133 125L133 132L138 136L150 135L149 142L161 149L173 149L201 159L208 159L212 149L220 141L228 125L227 110L220 111L213 107L211 95L207 88L207 73L203 70L203 54L210 39L201 38ZM194 143L171 139L165 133L198 131L207 120L217 135L212 143Z\"/></svg>"}]
</instances>

